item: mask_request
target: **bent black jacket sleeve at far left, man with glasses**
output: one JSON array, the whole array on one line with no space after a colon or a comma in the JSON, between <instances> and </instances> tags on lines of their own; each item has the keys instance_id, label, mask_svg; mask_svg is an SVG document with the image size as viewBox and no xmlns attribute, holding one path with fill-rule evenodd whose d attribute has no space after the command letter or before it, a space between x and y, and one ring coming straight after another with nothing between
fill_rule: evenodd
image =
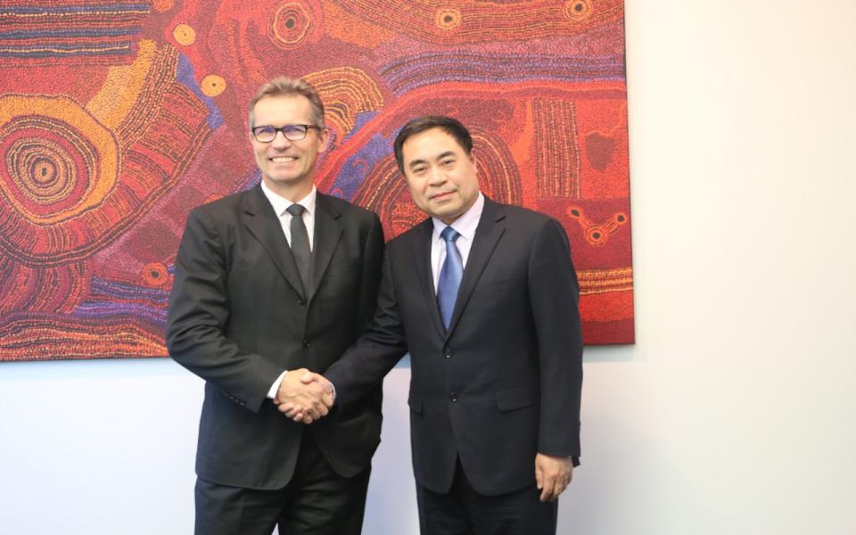
<instances>
[{"instance_id":1,"label":"bent black jacket sleeve at far left, man with glasses","mask_svg":"<svg viewBox=\"0 0 856 535\"><path fill-rule=\"evenodd\" d=\"M188 216L169 296L167 346L179 364L258 412L283 369L226 337L231 253L224 232L205 207Z\"/></svg>"}]
</instances>

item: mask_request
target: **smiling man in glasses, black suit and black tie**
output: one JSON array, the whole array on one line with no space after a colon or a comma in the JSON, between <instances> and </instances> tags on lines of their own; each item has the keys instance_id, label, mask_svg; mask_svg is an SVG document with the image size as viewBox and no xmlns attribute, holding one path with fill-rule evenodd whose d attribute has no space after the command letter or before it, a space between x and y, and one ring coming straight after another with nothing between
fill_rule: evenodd
<instances>
[{"instance_id":1,"label":"smiling man in glasses, black suit and black tie","mask_svg":"<svg viewBox=\"0 0 856 535\"><path fill-rule=\"evenodd\" d=\"M261 184L190 213L169 300L169 354L205 380L196 532L356 535L380 385L310 427L276 405L300 403L307 421L332 405L327 383L300 376L324 371L371 319L383 230L374 213L317 193L329 133L311 86L262 86L250 127Z\"/></svg>"}]
</instances>

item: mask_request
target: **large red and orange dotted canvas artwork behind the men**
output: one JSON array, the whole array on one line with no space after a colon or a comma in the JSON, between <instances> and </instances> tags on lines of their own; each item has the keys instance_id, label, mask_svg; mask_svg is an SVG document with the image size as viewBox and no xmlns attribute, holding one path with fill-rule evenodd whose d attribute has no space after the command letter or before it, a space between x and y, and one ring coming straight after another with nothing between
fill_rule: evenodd
<instances>
[{"instance_id":1,"label":"large red and orange dotted canvas artwork behind the men","mask_svg":"<svg viewBox=\"0 0 856 535\"><path fill-rule=\"evenodd\" d=\"M482 191L557 218L587 344L633 342L621 0L0 0L0 360L166 356L193 207L259 182L247 103L307 79L318 188L424 218L408 119L473 131Z\"/></svg>"}]
</instances>

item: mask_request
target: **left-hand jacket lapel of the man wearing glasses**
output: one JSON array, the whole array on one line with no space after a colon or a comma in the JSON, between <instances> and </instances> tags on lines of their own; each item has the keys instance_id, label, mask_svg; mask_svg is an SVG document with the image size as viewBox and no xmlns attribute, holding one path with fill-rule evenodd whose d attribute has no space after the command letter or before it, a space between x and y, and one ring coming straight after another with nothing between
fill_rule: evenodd
<instances>
[{"instance_id":1,"label":"left-hand jacket lapel of the man wearing glasses","mask_svg":"<svg viewBox=\"0 0 856 535\"><path fill-rule=\"evenodd\" d=\"M288 284L300 295L306 297L303 292L303 284L300 283L300 272L294 263L292 249L288 246L288 240L283 234L283 226L274 213L274 208L262 193L261 187L257 185L247 192L243 203L243 222L250 233L255 236L261 246L268 251L268 256L276 264L276 268L283 274Z\"/></svg>"}]
</instances>

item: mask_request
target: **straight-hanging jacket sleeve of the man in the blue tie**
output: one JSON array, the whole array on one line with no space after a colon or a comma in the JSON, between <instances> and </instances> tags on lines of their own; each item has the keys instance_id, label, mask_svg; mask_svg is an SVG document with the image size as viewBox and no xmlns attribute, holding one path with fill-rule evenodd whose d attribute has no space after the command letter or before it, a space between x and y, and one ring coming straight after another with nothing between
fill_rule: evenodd
<instances>
[{"instance_id":1,"label":"straight-hanging jacket sleeve of the man in the blue tie","mask_svg":"<svg viewBox=\"0 0 856 535\"><path fill-rule=\"evenodd\" d=\"M541 410L538 450L580 456L582 335L580 291L564 228L549 219L532 246L529 288L539 345ZM574 459L574 464L579 461Z\"/></svg>"}]
</instances>

